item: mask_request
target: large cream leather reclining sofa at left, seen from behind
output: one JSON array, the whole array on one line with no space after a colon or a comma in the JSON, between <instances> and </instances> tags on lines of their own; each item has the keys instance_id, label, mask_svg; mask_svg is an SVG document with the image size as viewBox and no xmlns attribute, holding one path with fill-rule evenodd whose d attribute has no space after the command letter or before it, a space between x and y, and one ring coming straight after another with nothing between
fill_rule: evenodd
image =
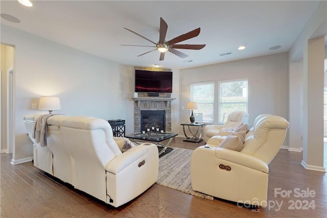
<instances>
[{"instance_id":1,"label":"large cream leather reclining sofa at left, seen from behind","mask_svg":"<svg viewBox=\"0 0 327 218\"><path fill-rule=\"evenodd\" d=\"M101 201L119 207L158 179L158 149L143 143L122 152L127 138L113 137L110 124L87 116L53 115L46 121L46 146L35 143L33 124L24 117L33 141L34 165Z\"/></svg>"}]
</instances>

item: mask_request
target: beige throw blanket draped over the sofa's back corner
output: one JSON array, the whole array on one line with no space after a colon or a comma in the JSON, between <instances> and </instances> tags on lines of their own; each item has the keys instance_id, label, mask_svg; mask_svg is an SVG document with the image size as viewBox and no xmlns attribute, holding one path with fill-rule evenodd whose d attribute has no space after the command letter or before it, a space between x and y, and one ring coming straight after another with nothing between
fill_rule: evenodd
<instances>
[{"instance_id":1,"label":"beige throw blanket draped over the sofa's back corner","mask_svg":"<svg viewBox=\"0 0 327 218\"><path fill-rule=\"evenodd\" d=\"M32 137L41 147L46 146L46 120L55 114L42 114L34 120Z\"/></svg>"}]
</instances>

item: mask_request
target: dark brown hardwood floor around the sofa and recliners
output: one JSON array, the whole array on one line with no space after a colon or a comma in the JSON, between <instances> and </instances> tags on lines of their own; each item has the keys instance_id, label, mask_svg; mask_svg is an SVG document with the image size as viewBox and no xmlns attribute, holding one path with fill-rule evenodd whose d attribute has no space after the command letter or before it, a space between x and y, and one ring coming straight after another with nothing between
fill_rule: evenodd
<instances>
[{"instance_id":1,"label":"dark brown hardwood floor around the sofa and recliners","mask_svg":"<svg viewBox=\"0 0 327 218\"><path fill-rule=\"evenodd\" d=\"M172 146L195 149L204 144L182 139L175 138ZM157 184L133 201L113 208L44 174L32 162L11 165L11 155L1 154L0 213L1 217L327 217L327 176L303 168L301 156L302 153L279 151L269 165L269 206L249 209ZM275 188L292 193L290 197L275 197ZM309 188L315 196L296 197L295 188L302 192Z\"/></svg>"}]
</instances>

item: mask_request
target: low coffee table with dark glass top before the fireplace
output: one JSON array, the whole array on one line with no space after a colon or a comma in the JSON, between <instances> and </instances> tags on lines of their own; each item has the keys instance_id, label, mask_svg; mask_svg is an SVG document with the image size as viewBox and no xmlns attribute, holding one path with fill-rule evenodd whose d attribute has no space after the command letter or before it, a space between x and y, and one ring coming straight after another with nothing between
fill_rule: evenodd
<instances>
[{"instance_id":1,"label":"low coffee table with dark glass top before the fireplace","mask_svg":"<svg viewBox=\"0 0 327 218\"><path fill-rule=\"evenodd\" d=\"M143 140L143 141L151 141L155 142L156 146L158 147L158 154L159 156L167 154L174 150L172 147L169 147L172 140L174 139L175 136L178 134L176 133L169 133L169 132L164 132L164 133L134 133L130 135L126 135L126 138L130 138L133 142L136 144L141 144L143 142L139 142L137 140ZM161 143L161 141L164 141L166 139L169 139L167 144Z\"/></svg>"}]
</instances>

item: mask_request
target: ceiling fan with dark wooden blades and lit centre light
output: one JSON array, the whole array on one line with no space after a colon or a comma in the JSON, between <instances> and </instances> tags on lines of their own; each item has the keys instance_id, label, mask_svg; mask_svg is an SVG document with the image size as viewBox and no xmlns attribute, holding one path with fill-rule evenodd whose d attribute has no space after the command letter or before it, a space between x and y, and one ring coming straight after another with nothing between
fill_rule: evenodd
<instances>
[{"instance_id":1,"label":"ceiling fan with dark wooden blades and lit centre light","mask_svg":"<svg viewBox=\"0 0 327 218\"><path fill-rule=\"evenodd\" d=\"M125 28L125 27L124 27L124 29L134 33L135 35L137 35L139 37L142 37L142 38L152 42L153 44L155 44L155 46L122 44L122 45L125 45L125 46L155 47L154 50L151 50L149 52L138 55L137 57L148 54L148 53L150 53L152 51L158 50L160 52L160 58L159 58L160 61L164 60L165 53L167 51L173 53L174 55L177 55L178 57L186 58L186 57L189 57L189 56L182 53L182 52L177 51L176 49L200 50L205 46L205 44L176 44L178 42L181 42L181 41L191 39L191 38L194 38L194 37L198 36L200 34L200 28L197 28L195 30L192 30L191 32L182 34L180 36L177 36L177 37L175 37L175 38L173 38L173 39L171 39L169 41L165 41L166 40L166 33L167 33L168 25L167 25L166 21L164 19L162 19L162 17L160 17L160 30L159 30L159 41L158 42L154 42L154 41L152 41L152 40L150 40L150 39L148 39L148 38L146 38L144 36L139 35L138 33L135 33L132 30L129 30L129 29Z\"/></svg>"}]
</instances>

